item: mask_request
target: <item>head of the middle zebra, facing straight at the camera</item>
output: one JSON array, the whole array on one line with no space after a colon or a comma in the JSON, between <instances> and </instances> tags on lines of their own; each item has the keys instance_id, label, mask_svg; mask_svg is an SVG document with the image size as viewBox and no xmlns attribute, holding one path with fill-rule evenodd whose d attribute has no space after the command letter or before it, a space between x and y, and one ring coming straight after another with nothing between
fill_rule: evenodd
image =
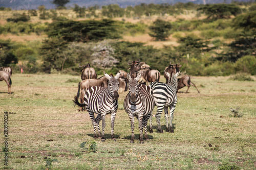
<instances>
[{"instance_id":1,"label":"head of the middle zebra, facing straight at the camera","mask_svg":"<svg viewBox=\"0 0 256 170\"><path fill-rule=\"evenodd\" d=\"M139 74L136 78L131 77L131 75L127 74L127 79L129 80L128 86L129 86L129 95L131 96L131 102L136 102L136 96L138 94L138 80L140 80L141 74Z\"/></svg>"}]
</instances>

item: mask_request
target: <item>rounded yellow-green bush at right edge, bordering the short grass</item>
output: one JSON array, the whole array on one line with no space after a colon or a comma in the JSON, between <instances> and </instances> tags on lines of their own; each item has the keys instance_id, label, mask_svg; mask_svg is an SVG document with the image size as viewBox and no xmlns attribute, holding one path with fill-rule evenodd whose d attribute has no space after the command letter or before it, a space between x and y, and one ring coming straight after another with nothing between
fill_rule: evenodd
<instances>
[{"instance_id":1,"label":"rounded yellow-green bush at right edge, bordering the short grass","mask_svg":"<svg viewBox=\"0 0 256 170\"><path fill-rule=\"evenodd\" d=\"M237 60L235 64L236 71L247 72L251 75L256 75L256 57L244 56Z\"/></svg>"}]
</instances>

